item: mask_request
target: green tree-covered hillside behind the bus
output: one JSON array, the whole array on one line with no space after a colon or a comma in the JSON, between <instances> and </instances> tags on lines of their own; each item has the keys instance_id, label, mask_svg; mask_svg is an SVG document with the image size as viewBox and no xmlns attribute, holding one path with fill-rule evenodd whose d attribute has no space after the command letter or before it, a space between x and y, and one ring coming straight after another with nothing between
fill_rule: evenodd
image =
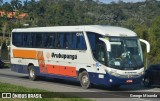
<instances>
[{"instance_id":1,"label":"green tree-covered hillside behind the bus","mask_svg":"<svg viewBox=\"0 0 160 101\"><path fill-rule=\"evenodd\" d=\"M0 31L7 22L7 33L24 23L29 27L100 24L129 28L150 42L149 64L160 63L160 1L104 4L99 0L12 0L1 3L0 9L29 15L23 20L1 17Z\"/></svg>"}]
</instances>

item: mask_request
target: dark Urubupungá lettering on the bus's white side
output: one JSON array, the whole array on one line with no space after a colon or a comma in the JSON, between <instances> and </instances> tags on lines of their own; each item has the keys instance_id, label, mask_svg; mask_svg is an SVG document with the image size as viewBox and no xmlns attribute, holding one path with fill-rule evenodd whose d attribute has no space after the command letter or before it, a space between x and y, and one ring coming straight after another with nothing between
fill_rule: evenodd
<instances>
[{"instance_id":1,"label":"dark Urubupung\u00e1 lettering on the bus's white side","mask_svg":"<svg viewBox=\"0 0 160 101\"><path fill-rule=\"evenodd\" d=\"M52 58L63 58L63 59L77 59L77 55L68 55L68 54L55 54L52 53Z\"/></svg>"}]
</instances>

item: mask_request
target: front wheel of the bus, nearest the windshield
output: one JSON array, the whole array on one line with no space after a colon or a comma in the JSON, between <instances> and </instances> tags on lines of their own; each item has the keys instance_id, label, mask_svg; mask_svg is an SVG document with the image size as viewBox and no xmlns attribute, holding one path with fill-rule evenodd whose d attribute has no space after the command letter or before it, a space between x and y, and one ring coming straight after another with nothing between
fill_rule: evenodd
<instances>
[{"instance_id":1,"label":"front wheel of the bus, nearest the windshield","mask_svg":"<svg viewBox=\"0 0 160 101\"><path fill-rule=\"evenodd\" d=\"M79 74L79 80L82 88L87 89L90 87L91 83L87 71L83 71Z\"/></svg>"}]
</instances>

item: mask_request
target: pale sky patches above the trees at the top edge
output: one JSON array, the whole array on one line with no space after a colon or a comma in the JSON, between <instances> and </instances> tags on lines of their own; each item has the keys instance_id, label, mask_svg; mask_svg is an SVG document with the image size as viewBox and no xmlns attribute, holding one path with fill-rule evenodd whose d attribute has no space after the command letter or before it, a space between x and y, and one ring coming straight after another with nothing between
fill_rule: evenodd
<instances>
[{"instance_id":1,"label":"pale sky patches above the trees at the top edge","mask_svg":"<svg viewBox=\"0 0 160 101\"><path fill-rule=\"evenodd\" d=\"M3 2L10 2L11 0L3 0ZM25 0L21 0L22 2L25 1ZM101 2L104 2L104 3L111 3L112 1L114 2L118 2L119 0L100 0ZM124 2L143 2L145 0L121 0L121 1L124 1Z\"/></svg>"}]
</instances>

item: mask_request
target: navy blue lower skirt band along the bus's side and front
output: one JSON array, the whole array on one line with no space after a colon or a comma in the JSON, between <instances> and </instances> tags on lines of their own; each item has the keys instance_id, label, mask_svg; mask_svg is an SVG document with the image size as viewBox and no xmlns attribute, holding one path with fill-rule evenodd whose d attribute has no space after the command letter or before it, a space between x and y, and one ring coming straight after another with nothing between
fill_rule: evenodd
<instances>
[{"instance_id":1,"label":"navy blue lower skirt band along the bus's side and front","mask_svg":"<svg viewBox=\"0 0 160 101\"><path fill-rule=\"evenodd\" d=\"M78 78L75 77L75 75L65 75L65 73L64 74L41 73L39 67L35 66L34 68L35 68L36 74L38 76L79 81ZM15 71L15 72L18 72L18 73L28 74L27 66L23 66L23 65L12 64L11 70ZM76 72L76 74L77 73L78 73L78 71ZM89 74L91 83L102 84L102 85L109 86L109 87L112 86L112 85L139 84L139 83L141 83L142 78L143 78L143 76L138 76L138 77L135 77L135 78L119 78L119 77L115 77L113 75L109 75L107 73L106 74L101 74L101 73L95 73L95 72L88 72L88 74ZM110 82L110 79L112 79L112 82ZM132 80L133 82L128 83L128 82L126 82L127 80Z\"/></svg>"}]
</instances>

